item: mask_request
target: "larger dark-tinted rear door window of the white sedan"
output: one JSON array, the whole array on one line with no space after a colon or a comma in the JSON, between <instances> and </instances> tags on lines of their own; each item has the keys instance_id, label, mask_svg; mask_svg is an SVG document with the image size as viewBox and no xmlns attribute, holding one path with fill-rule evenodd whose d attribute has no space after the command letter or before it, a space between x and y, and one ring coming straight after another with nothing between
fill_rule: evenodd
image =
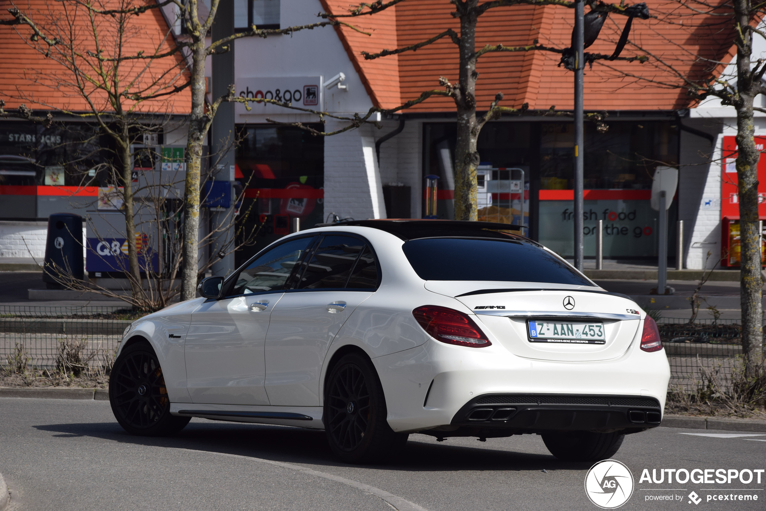
<instances>
[{"instance_id":1,"label":"larger dark-tinted rear door window of the white sedan","mask_svg":"<svg viewBox=\"0 0 766 511\"><path fill-rule=\"evenodd\" d=\"M325 236L303 271L298 289L337 289L345 287L352 267L365 246L350 236Z\"/></svg>"}]
</instances>

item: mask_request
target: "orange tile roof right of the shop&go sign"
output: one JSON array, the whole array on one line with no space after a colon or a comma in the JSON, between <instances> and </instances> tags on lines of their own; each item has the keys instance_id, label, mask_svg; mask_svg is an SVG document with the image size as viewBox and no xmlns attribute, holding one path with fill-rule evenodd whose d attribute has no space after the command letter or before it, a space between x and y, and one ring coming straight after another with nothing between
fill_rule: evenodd
<instances>
[{"instance_id":1,"label":"orange tile roof right of the shop&go sign","mask_svg":"<svg viewBox=\"0 0 766 511\"><path fill-rule=\"evenodd\" d=\"M345 12L348 2L322 0L326 9ZM659 19L633 20L630 42L622 57L653 54L672 64L682 74L699 75L702 66L695 57L728 62L735 54L732 31L718 25L719 19L698 15L689 25L689 16L663 13L663 0L648 0L650 11ZM372 37L349 28L338 32L349 52L365 87L377 106L391 107L414 99L424 90L438 89L440 76L457 81L457 46L443 38L415 52L365 61L362 51L377 52L424 41L447 28L460 30L459 21L450 15L453 5L447 0L405 0L377 15L345 18L360 28L372 28ZM568 47L574 11L555 5L494 8L479 18L476 47L485 44L516 46L530 44L535 38L541 44ZM588 48L592 53L611 54L627 18L611 15L598 41ZM686 20L686 25L683 22ZM680 22L679 22L680 21ZM714 21L711 23L710 21ZM708 25L705 28L705 25ZM396 30L393 30L395 26ZM480 58L477 70L476 100L480 110L489 106L496 93L505 94L502 104L559 110L573 106L574 75L558 67L559 54L545 51L493 53ZM388 62L385 62L388 61ZM722 69L719 66L719 71ZM624 76L638 74L659 82L650 84ZM684 90L663 86L678 80L666 68L653 62L639 64L624 61L597 61L585 71L585 108L587 110L673 110L690 106ZM411 112L455 110L452 100L432 97Z\"/></svg>"}]
</instances>

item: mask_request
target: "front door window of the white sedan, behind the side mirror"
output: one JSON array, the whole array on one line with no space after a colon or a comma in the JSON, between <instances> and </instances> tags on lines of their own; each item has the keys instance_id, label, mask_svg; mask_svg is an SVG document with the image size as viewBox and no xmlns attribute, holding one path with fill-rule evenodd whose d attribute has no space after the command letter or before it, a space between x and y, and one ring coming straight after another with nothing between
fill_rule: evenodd
<instances>
[{"instance_id":1,"label":"front door window of the white sedan, behind the side mirror","mask_svg":"<svg viewBox=\"0 0 766 511\"><path fill-rule=\"evenodd\" d=\"M234 277L234 287L228 296L284 289L293 267L300 262L315 239L300 237L273 247Z\"/></svg>"}]
</instances>

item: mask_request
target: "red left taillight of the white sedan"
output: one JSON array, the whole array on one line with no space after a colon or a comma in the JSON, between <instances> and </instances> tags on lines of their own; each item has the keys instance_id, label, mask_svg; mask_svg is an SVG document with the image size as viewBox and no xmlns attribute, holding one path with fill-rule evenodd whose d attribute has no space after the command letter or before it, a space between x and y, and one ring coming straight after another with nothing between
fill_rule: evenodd
<instances>
[{"instance_id":1,"label":"red left taillight of the white sedan","mask_svg":"<svg viewBox=\"0 0 766 511\"><path fill-rule=\"evenodd\" d=\"M424 305L412 311L423 329L437 341L470 348L492 346L484 332L473 323L473 319L459 310L437 305Z\"/></svg>"}]
</instances>

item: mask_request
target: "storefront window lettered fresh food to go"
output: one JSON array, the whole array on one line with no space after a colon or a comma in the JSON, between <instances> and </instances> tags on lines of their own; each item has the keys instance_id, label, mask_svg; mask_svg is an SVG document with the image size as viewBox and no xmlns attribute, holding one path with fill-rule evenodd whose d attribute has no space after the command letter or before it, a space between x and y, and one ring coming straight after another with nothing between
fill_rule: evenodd
<instances>
[{"instance_id":1,"label":"storefront window lettered fresh food to go","mask_svg":"<svg viewBox=\"0 0 766 511\"><path fill-rule=\"evenodd\" d=\"M677 165L678 126L656 120L607 124L606 133L598 133L594 123L585 124L585 255L594 256L596 221L603 220L604 257L656 257L657 215L649 204L652 178L657 165ZM574 243L573 128L571 122L497 121L483 127L477 143L481 161L477 184L482 187L485 179L518 179L518 172L484 169L522 169L529 234L565 257L571 257ZM424 124L423 175L440 177L439 218L453 218L456 134L454 123ZM478 194L480 219L505 221L510 216L519 223L517 195L492 194L490 186L485 188L486 204L481 203L482 189ZM669 211L671 222L676 208L677 201Z\"/></svg>"}]
</instances>

